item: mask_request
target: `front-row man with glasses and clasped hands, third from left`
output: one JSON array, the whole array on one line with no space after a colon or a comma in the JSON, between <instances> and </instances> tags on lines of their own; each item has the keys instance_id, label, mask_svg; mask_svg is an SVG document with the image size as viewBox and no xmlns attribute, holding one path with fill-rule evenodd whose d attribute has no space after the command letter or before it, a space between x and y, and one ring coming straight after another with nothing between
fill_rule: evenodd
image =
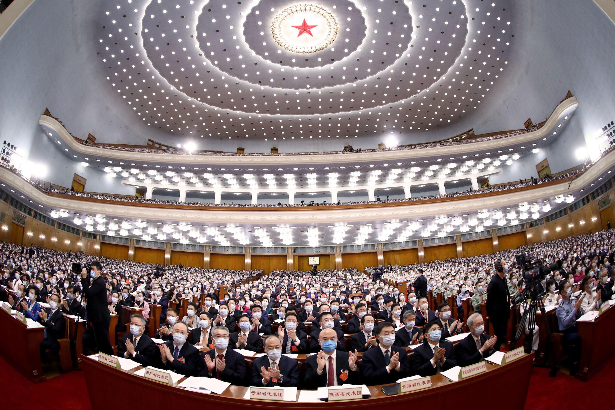
<instances>
[{"instance_id":1,"label":"front-row man with glasses and clasped hands, third from left","mask_svg":"<svg viewBox=\"0 0 615 410\"><path fill-rule=\"evenodd\" d=\"M229 330L224 326L213 326L212 341L215 349L205 353L205 368L200 377L215 377L223 382L241 385L245 379L244 355L228 349Z\"/></svg>"}]
</instances>

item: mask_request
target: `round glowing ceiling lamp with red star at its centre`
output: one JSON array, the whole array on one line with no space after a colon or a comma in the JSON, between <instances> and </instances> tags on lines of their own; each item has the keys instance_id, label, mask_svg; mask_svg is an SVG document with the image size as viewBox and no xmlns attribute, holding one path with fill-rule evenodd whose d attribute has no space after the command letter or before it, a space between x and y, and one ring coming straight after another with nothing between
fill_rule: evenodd
<instances>
[{"instance_id":1,"label":"round glowing ceiling lamp with red star at its centre","mask_svg":"<svg viewBox=\"0 0 615 410\"><path fill-rule=\"evenodd\" d=\"M310 19L309 24L306 23L306 17ZM292 25L291 20L302 18L301 25ZM293 28L299 31L291 33ZM297 4L287 7L276 15L271 23L271 35L285 50L295 53L315 53L326 49L335 40L338 35L338 22L333 14L323 7Z\"/></svg>"}]
</instances>

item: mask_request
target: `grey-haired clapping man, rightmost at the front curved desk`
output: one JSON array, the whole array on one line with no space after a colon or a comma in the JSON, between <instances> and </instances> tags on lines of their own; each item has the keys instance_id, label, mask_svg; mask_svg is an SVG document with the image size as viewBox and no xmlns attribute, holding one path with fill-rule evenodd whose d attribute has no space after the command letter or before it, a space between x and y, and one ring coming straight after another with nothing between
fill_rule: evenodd
<instances>
[{"instance_id":1,"label":"grey-haired clapping man, rightmost at the front curved desk","mask_svg":"<svg viewBox=\"0 0 615 410\"><path fill-rule=\"evenodd\" d=\"M472 313L467 318L467 326L470 328L470 336L459 342L456 353L457 362L462 367L474 365L493 354L493 345L497 340L497 337L483 333L485 321L480 313Z\"/></svg>"}]
</instances>

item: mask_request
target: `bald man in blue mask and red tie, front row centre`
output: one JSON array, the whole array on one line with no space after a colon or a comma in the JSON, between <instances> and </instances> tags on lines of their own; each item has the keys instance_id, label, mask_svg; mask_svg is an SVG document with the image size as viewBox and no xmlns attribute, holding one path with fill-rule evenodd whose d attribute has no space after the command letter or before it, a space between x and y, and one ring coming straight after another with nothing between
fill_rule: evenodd
<instances>
[{"instance_id":1,"label":"bald man in blue mask and red tie, front row centre","mask_svg":"<svg viewBox=\"0 0 615 410\"><path fill-rule=\"evenodd\" d=\"M357 384L360 380L357 352L336 350L338 335L333 329L322 329L318 342L321 350L306 359L306 376L303 388Z\"/></svg>"}]
</instances>

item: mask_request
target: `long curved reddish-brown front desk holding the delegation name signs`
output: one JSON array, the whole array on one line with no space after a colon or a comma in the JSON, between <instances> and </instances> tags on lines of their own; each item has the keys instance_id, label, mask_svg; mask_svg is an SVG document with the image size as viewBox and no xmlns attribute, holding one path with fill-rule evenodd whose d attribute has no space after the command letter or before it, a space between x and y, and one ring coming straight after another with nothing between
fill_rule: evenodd
<instances>
[{"instance_id":1,"label":"long curved reddish-brown front desk holding the delegation name signs","mask_svg":"<svg viewBox=\"0 0 615 410\"><path fill-rule=\"evenodd\" d=\"M454 403L469 400L469 397L480 395L482 403L495 405L499 410L519 410L525 405L525 398L530 385L530 374L534 355L507 363L503 366L486 363L486 372L467 379L451 382L438 374L431 376L432 387L417 392L386 396L381 387L370 386L371 397L361 405L403 405L404 408L429 406L431 410L450 410ZM170 386L145 379L135 375L141 366L124 371L105 365L82 356L85 383L94 410L107 410L117 406L117 403L132 403L138 401L141 408L205 408L204 406L221 406L220 408L271 409L276 404L271 401L247 400L244 395L248 387L231 385L221 395L204 394ZM179 380L181 382L183 379ZM514 390L510 390L510 388ZM111 393L113 392L113 393ZM514 392L507 395L506 392ZM297 398L300 392L297 392ZM354 409L357 401L335 401L333 403L301 403L285 401L282 406L288 409L334 408ZM410 407L411 406L411 407Z\"/></svg>"}]
</instances>

